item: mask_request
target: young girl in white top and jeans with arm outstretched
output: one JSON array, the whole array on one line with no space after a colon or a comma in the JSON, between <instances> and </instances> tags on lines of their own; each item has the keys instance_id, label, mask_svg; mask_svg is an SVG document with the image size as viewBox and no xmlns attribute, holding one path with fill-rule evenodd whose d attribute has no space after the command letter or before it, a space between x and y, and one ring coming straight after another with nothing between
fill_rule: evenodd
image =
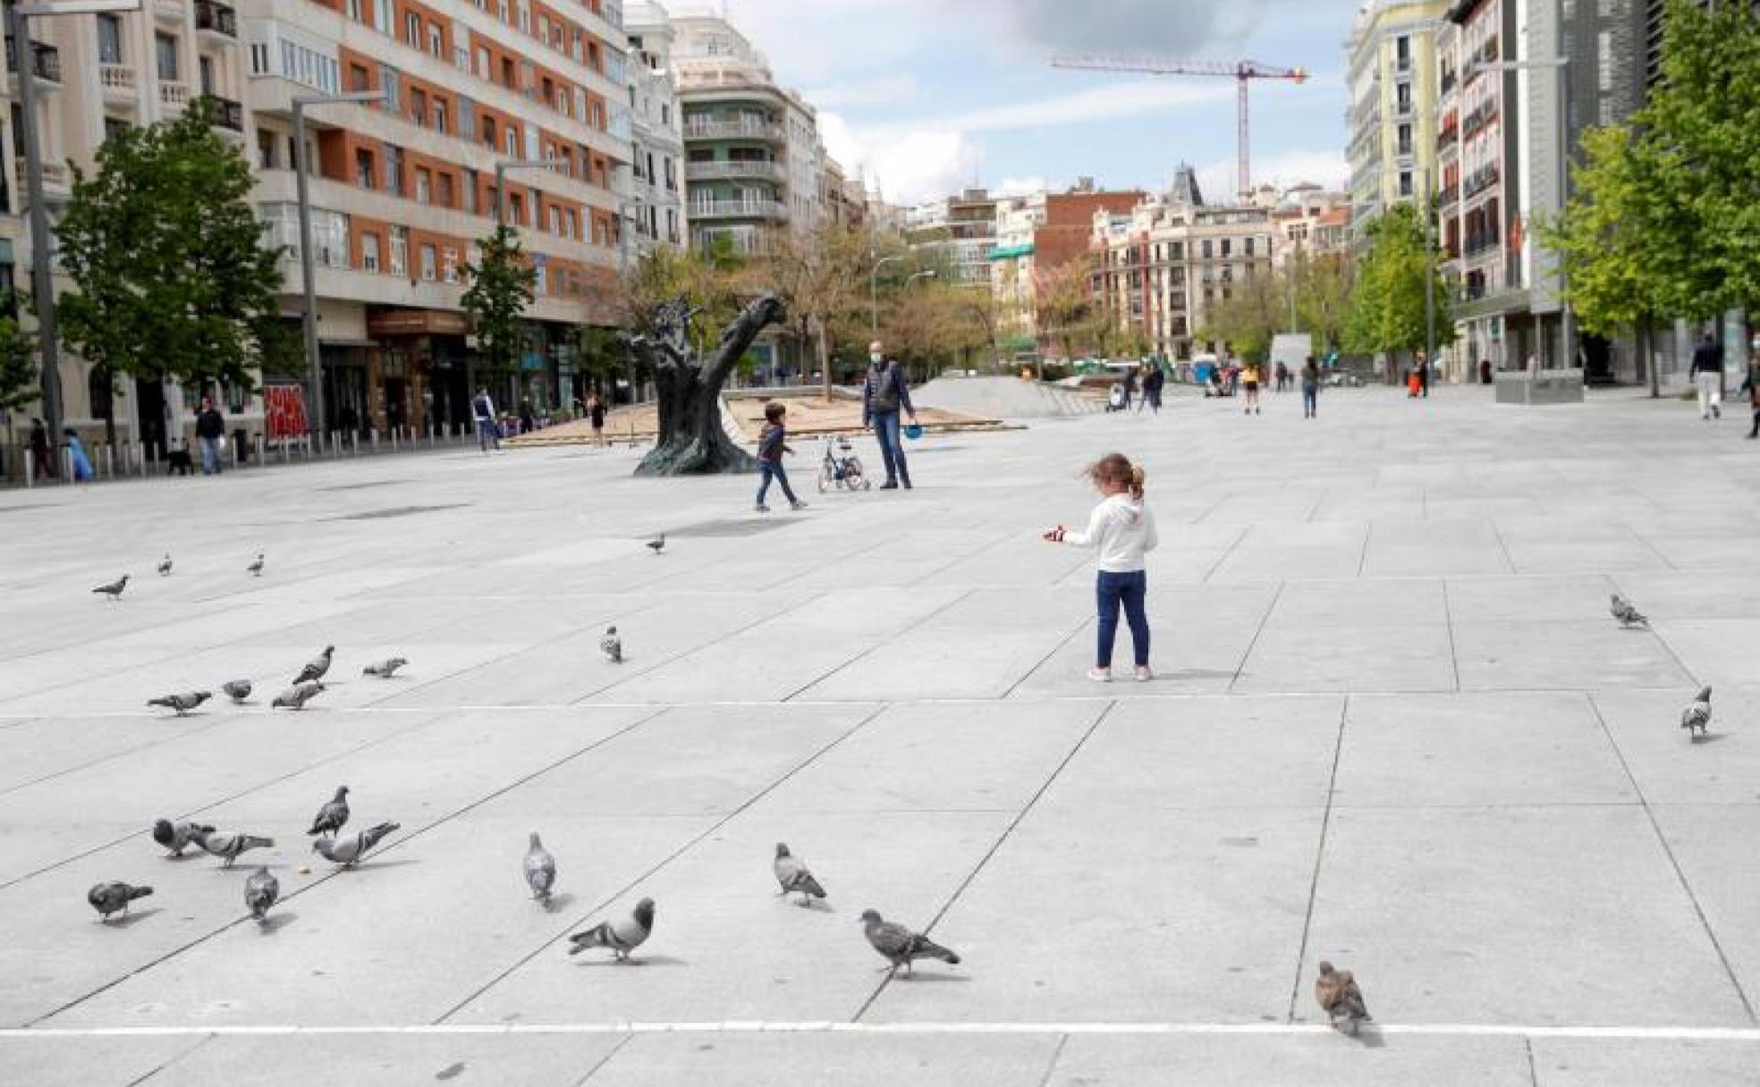
<instances>
[{"instance_id":1,"label":"young girl in white top and jeans with arm outstretched","mask_svg":"<svg viewBox=\"0 0 1760 1087\"><path fill-rule=\"evenodd\" d=\"M1155 551L1160 540L1155 535L1155 514L1142 501L1142 468L1123 454L1107 454L1089 464L1086 475L1104 496L1088 515L1088 531L1072 533L1060 524L1045 533L1045 538L1100 552L1100 573L1095 580L1095 598L1100 603L1100 647L1088 679L1112 681L1112 640L1118 635L1118 609L1125 605L1137 682L1146 682L1151 679L1149 616L1142 605L1149 580L1142 566L1144 556Z\"/></svg>"}]
</instances>

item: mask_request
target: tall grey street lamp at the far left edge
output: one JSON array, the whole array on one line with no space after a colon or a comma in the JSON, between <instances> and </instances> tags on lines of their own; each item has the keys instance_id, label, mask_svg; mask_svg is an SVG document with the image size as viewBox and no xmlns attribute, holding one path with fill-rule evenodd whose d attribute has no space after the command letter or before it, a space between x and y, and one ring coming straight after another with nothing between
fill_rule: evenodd
<instances>
[{"instance_id":1,"label":"tall grey street lamp at the far left edge","mask_svg":"<svg viewBox=\"0 0 1760 1087\"><path fill-rule=\"evenodd\" d=\"M51 0L12 4L5 32L12 39L18 67L18 135L25 144L25 192L30 199L30 290L37 303L37 339L42 348L42 413L49 447L62 447L62 345L55 331L55 273L49 269L49 209L42 195L42 148L37 142L37 74L30 51L30 19L35 16L92 16L141 11L141 0ZM56 466L60 471L60 466Z\"/></svg>"}]
</instances>

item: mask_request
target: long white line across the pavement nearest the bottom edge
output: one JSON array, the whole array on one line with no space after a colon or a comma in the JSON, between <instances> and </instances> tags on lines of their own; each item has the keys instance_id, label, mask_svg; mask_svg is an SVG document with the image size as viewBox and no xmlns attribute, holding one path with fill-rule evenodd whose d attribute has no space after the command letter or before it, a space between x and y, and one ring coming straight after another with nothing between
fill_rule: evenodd
<instances>
[{"instance_id":1,"label":"long white line across the pavement nearest the bottom edge","mask_svg":"<svg viewBox=\"0 0 1760 1087\"><path fill-rule=\"evenodd\" d=\"M1415 1038L1573 1038L1603 1041L1739 1041L1760 1045L1753 1027L1533 1027L1521 1024L1376 1024L1369 1031ZM412 1025L211 1025L211 1027L4 1027L21 1038L276 1038L276 1036L473 1036L473 1034L1331 1034L1324 1024L1102 1024L1102 1022L598 1022Z\"/></svg>"}]
</instances>

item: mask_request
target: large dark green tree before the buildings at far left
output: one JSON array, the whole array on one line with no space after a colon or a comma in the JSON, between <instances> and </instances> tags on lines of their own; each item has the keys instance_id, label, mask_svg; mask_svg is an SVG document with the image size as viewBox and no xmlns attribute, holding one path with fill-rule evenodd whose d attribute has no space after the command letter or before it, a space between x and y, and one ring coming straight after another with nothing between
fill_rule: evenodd
<instances>
[{"instance_id":1,"label":"large dark green tree before the buildings at far left","mask_svg":"<svg viewBox=\"0 0 1760 1087\"><path fill-rule=\"evenodd\" d=\"M252 387L282 271L250 186L250 164L215 134L206 100L174 121L116 130L90 176L74 165L56 227L74 283L58 306L67 347L107 380ZM106 436L114 441L114 419Z\"/></svg>"}]
</instances>

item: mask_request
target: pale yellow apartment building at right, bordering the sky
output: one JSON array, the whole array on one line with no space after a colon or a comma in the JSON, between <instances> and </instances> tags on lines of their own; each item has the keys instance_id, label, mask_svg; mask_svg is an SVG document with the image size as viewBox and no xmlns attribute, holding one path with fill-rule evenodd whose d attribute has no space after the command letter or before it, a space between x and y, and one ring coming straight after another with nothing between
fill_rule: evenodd
<instances>
[{"instance_id":1,"label":"pale yellow apartment building at right, bordering the sky","mask_svg":"<svg viewBox=\"0 0 1760 1087\"><path fill-rule=\"evenodd\" d=\"M1436 185L1436 26L1448 0L1368 0L1345 44L1352 222Z\"/></svg>"}]
</instances>

